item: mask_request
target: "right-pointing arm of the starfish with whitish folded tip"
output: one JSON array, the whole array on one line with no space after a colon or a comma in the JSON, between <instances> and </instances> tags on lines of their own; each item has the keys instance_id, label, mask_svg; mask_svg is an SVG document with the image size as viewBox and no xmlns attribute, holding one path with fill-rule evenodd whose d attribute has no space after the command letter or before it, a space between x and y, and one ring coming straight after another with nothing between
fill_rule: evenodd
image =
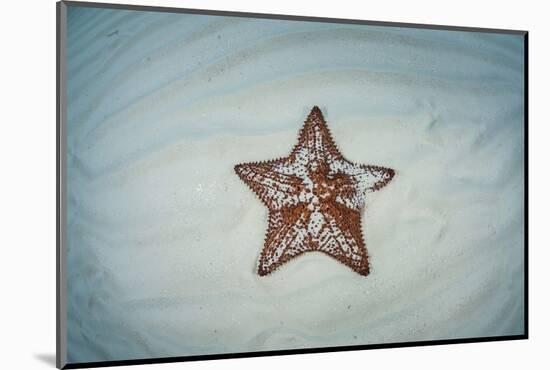
<instances>
[{"instance_id":1,"label":"right-pointing arm of the starfish with whitish folded tip","mask_svg":"<svg viewBox=\"0 0 550 370\"><path fill-rule=\"evenodd\" d=\"M336 201L354 210L363 208L365 193L381 189L395 175L391 168L355 164L345 159L332 163L331 171L346 178L338 189Z\"/></svg>"}]
</instances>

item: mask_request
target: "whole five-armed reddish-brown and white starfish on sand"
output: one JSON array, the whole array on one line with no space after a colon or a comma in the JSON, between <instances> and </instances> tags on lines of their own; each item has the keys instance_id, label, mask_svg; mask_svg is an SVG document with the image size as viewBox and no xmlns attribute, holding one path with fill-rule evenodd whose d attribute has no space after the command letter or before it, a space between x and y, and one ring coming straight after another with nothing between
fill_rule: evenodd
<instances>
[{"instance_id":1,"label":"whole five-armed reddish-brown and white starfish on sand","mask_svg":"<svg viewBox=\"0 0 550 370\"><path fill-rule=\"evenodd\" d=\"M366 193L388 184L395 171L345 159L317 106L288 157L238 164L235 172L269 210L260 276L311 251L368 275L361 210Z\"/></svg>"}]
</instances>

